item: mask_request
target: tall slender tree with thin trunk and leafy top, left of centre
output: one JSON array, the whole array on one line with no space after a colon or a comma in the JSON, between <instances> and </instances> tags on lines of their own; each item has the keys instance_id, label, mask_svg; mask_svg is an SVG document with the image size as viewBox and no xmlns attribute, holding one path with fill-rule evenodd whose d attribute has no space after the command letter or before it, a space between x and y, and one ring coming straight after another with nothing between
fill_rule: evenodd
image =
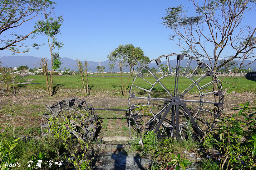
<instances>
[{"instance_id":1,"label":"tall slender tree with thin trunk and leafy top, left of centre","mask_svg":"<svg viewBox=\"0 0 256 170\"><path fill-rule=\"evenodd\" d=\"M48 91L49 96L52 96L52 85L53 85L53 71L60 66L60 57L59 54L54 52L53 50L57 48L59 50L63 47L63 43L57 41L57 36L60 34L60 27L63 23L62 16L59 17L49 17L46 20L39 20L37 25L35 26L38 28L37 33L41 35L46 35L48 40L48 45L50 48L51 53L51 74L50 74L50 89ZM55 63L54 63L55 62Z\"/></svg>"}]
</instances>

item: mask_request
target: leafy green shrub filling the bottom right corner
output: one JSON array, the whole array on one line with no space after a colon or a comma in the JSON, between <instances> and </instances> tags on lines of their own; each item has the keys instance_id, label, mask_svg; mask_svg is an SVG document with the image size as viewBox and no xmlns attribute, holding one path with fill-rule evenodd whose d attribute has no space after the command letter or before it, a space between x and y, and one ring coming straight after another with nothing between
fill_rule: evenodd
<instances>
[{"instance_id":1,"label":"leafy green shrub filling the bottom right corner","mask_svg":"<svg viewBox=\"0 0 256 170\"><path fill-rule=\"evenodd\" d=\"M255 111L256 108L249 107L249 102L239 104L233 110L239 113L230 118L220 119L218 127L215 129L219 134L219 140L212 138L213 145L222 153L220 170L226 168L241 169L254 168L256 154L256 135L255 135ZM235 117L239 117L236 119ZM241 122L241 116L244 122ZM243 137L243 140L241 138ZM248 140L247 140L248 139ZM245 163L245 164L244 164Z\"/></svg>"}]
</instances>

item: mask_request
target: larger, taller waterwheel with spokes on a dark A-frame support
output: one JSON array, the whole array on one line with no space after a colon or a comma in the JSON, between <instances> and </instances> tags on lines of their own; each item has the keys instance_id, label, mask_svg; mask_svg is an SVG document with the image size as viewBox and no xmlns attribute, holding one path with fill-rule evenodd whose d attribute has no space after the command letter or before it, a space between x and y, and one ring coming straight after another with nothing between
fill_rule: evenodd
<instances>
[{"instance_id":1,"label":"larger, taller waterwheel with spokes on a dark A-frame support","mask_svg":"<svg viewBox=\"0 0 256 170\"><path fill-rule=\"evenodd\" d=\"M159 73L150 69L154 65ZM220 81L208 64L189 55L163 55L146 64L133 79L130 116L139 129L145 118L145 130L199 138L214 128L223 110L223 97ZM132 111L144 105L151 107L153 116Z\"/></svg>"}]
</instances>

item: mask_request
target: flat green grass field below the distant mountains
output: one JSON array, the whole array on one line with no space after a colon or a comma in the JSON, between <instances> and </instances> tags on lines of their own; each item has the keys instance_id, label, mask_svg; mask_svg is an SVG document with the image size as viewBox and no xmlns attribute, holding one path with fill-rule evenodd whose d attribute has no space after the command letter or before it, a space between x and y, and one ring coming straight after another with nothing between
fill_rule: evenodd
<instances>
[{"instance_id":1,"label":"flat green grass field below the distant mountains","mask_svg":"<svg viewBox=\"0 0 256 170\"><path fill-rule=\"evenodd\" d=\"M159 77L160 78L160 77ZM45 77L44 76L27 76L25 79L35 79L32 83L39 83L42 85L33 85L35 88L45 87ZM146 78L150 82L155 82L155 78L147 77ZM211 77L205 77L200 84L203 85L207 82L211 81ZM127 89L130 88L132 84L133 77L131 77L130 82L128 83ZM128 77L123 77L124 84L128 81ZM256 92L256 82L253 80L248 80L245 77L234 77L234 78L225 78L222 80L227 83L222 83L222 88L227 88L227 92L236 91L238 93L242 92ZM62 88L66 89L81 89L82 82L78 76L54 76L53 82L55 85L61 85ZM98 90L113 90L120 89L121 90L121 77L106 77L106 76L90 76L88 79L89 86L92 87L92 91L95 89ZM162 79L161 82L168 88L174 88L175 77L168 77ZM179 90L185 90L188 85L192 84L192 81L185 77L179 78ZM235 85L231 85L235 84ZM149 89L151 85L145 83L144 80L137 78L136 84L145 89ZM160 85L156 85L155 88L162 88ZM212 89L212 86L209 86L208 89Z\"/></svg>"}]
</instances>

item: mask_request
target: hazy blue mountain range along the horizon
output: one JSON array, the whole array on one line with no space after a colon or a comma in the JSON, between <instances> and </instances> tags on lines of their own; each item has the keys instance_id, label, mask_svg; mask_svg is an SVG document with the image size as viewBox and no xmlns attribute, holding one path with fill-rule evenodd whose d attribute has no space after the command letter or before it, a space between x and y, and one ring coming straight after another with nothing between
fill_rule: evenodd
<instances>
[{"instance_id":1,"label":"hazy blue mountain range along the horizon","mask_svg":"<svg viewBox=\"0 0 256 170\"><path fill-rule=\"evenodd\" d=\"M28 68L34 68L34 67L40 67L39 61L41 58L39 57L33 57L33 56L3 56L0 57L0 62L2 62L3 67L19 67L21 65L25 66L27 65ZM61 61L63 64L61 65L62 71L65 71L64 68L70 68L70 71L75 71L76 70L76 60L73 60L71 58L63 57L61 58ZM85 61L81 61L84 63ZM88 71L96 71L96 67L99 66L99 62L93 62L93 61L87 61L89 63ZM106 70L105 71L111 71L108 66L109 60L102 61L101 66L105 66ZM51 63L50 60L48 60L48 63ZM161 64L166 64L166 61L161 62ZM181 66L185 67L187 64L187 60L181 61ZM248 69L248 67L251 67L251 70L256 70L256 62L253 64L250 64L245 67L245 69ZM191 63L190 67L195 68L196 63ZM115 71L118 72L118 67L115 66L116 68L114 69ZM155 67L158 68L155 62L152 62L149 64L149 67ZM173 60L173 62L170 62L170 67L176 67L176 60ZM48 69L50 69L48 67ZM125 67L124 71L130 71L128 67Z\"/></svg>"}]
</instances>

